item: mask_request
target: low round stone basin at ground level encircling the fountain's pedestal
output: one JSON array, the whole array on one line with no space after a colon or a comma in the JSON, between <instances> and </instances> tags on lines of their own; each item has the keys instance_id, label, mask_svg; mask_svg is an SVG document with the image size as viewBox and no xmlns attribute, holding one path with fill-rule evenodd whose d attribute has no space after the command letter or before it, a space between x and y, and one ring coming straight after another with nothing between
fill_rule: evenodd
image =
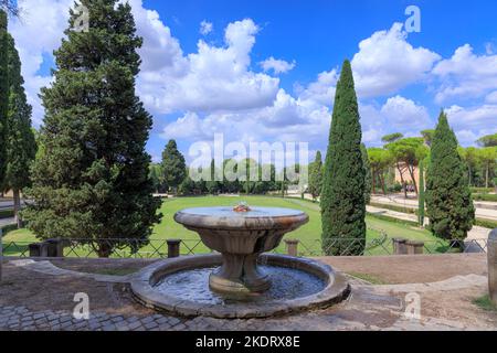
<instances>
[{"instance_id":1,"label":"low round stone basin at ground level encircling the fountain's pedestal","mask_svg":"<svg viewBox=\"0 0 497 353\"><path fill-rule=\"evenodd\" d=\"M223 299L225 297L202 297L202 295L198 296L197 293L199 286L203 285L195 284L195 277L191 274L184 274L186 276L181 274L182 271L200 271L198 272L199 276L205 276L204 272L209 272L213 268L222 266L222 255L187 256L159 261L135 275L130 284L131 291L139 302L158 311L180 317L203 315L220 319L267 318L326 308L345 300L350 293L350 286L346 278L335 272L330 266L311 259L282 255L261 255L258 265L263 268L269 267L272 271L273 269L281 271L286 278L296 277L297 286L295 288L305 288L295 292L294 296L285 292L283 297L278 298L279 295L276 295L275 298L271 298L269 291L269 293L261 295L266 297L254 295L253 297L244 297L243 300ZM269 271L269 277L272 271ZM292 276L292 271L296 276ZM168 287L177 286L168 282L168 278L175 276L178 276L178 279L192 278L193 280L183 285L180 284L183 286L182 288L168 291ZM309 280L302 276L314 277L310 281L313 286L309 286ZM303 278L306 286L298 286L298 278ZM275 278L273 278L273 282L277 287ZM289 282L283 285L286 286L285 288L292 287ZM166 290L162 290L163 288ZM274 290L279 293L277 288Z\"/></svg>"}]
</instances>

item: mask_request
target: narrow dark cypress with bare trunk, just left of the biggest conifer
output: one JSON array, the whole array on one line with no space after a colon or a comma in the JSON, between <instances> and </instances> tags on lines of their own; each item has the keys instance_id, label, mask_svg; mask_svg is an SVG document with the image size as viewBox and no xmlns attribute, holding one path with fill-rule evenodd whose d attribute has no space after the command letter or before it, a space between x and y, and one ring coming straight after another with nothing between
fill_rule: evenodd
<instances>
[{"instance_id":1,"label":"narrow dark cypress with bare trunk, just left of the biggest conifer","mask_svg":"<svg viewBox=\"0 0 497 353\"><path fill-rule=\"evenodd\" d=\"M4 186L12 190L14 215L18 227L22 227L19 211L20 192L30 185L30 168L36 156L36 142L31 127L32 108L27 101L21 60L14 40L9 35L9 114L7 136L7 173Z\"/></svg>"}]
</instances>

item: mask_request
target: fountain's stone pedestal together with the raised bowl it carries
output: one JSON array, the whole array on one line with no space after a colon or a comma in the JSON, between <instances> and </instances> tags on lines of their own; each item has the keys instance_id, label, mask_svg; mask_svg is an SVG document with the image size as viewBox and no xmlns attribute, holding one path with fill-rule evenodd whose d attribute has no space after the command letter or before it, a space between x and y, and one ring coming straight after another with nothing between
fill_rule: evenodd
<instances>
[{"instance_id":1,"label":"fountain's stone pedestal together with the raised bowl it carries","mask_svg":"<svg viewBox=\"0 0 497 353\"><path fill-rule=\"evenodd\" d=\"M257 266L261 254L275 249L283 236L308 222L300 211L254 207L189 208L175 221L197 232L209 248L222 254L221 268L212 272L210 288L224 295L250 295L271 288L271 279Z\"/></svg>"}]
</instances>

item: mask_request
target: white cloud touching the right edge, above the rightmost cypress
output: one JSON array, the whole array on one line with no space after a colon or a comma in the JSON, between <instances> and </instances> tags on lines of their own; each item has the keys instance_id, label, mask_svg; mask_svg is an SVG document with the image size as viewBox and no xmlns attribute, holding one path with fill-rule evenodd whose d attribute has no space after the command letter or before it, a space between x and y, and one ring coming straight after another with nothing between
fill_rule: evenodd
<instances>
[{"instance_id":1,"label":"white cloud touching the right edge, above the rightmost cypress","mask_svg":"<svg viewBox=\"0 0 497 353\"><path fill-rule=\"evenodd\" d=\"M451 58L441 61L433 74L442 82L435 97L437 103L477 98L497 87L497 55L478 56L465 44Z\"/></svg>"}]
</instances>

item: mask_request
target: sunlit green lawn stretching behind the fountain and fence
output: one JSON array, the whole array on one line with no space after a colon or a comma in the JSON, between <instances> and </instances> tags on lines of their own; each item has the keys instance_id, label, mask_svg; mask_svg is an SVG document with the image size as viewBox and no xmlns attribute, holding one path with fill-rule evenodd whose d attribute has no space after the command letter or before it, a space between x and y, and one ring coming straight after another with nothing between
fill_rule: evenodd
<instances>
[{"instance_id":1,"label":"sunlit green lawn stretching behind the fountain and fence","mask_svg":"<svg viewBox=\"0 0 497 353\"><path fill-rule=\"evenodd\" d=\"M297 238L302 240L300 250L305 250L307 254L309 252L319 254L320 250L320 234L321 234L321 222L319 205L296 199L281 199L281 197L269 197L269 196L242 196L242 197L225 197L225 196L204 196L204 197L181 197L181 199L169 199L162 204L161 212L163 214L162 222L154 228L154 234L151 236L151 244L144 247L140 253L141 256L150 255L165 255L167 253L166 244L163 239L168 238L179 238L183 239L182 253L187 254L189 248L195 254L209 253L209 249L199 244L199 236L186 229L182 225L176 223L172 217L175 213L182 208L188 207L201 207L201 206L231 206L235 205L241 201L246 201L250 205L258 206L273 206L273 207L290 207L298 208L306 212L309 215L309 223L300 227L299 229L287 235L288 238ZM410 227L408 225L398 224L393 222L388 222L383 220L378 220L372 216L367 217L368 223L368 242L372 239L382 238L382 234L387 234L389 239L383 244L384 247L389 248L391 252L391 240L393 237L404 237L409 239L433 242L436 240L431 233ZM27 248L29 243L35 242L35 237L32 233L27 229L14 231L6 235L3 243L7 246L6 255L14 256L22 252L20 248L13 246L9 247L9 243L15 242L23 249ZM441 243L442 244L442 243ZM427 246L433 245L433 250L436 250L434 243L427 243ZM284 245L281 245L277 252L283 253L285 250ZM84 248L75 249L80 256L85 256L88 250ZM71 256L71 249L66 249L66 255ZM119 254L127 254L127 250L119 252ZM73 254L74 255L74 254ZM313 254L310 254L313 255ZM369 248L368 255L387 255L387 252L382 247Z\"/></svg>"}]
</instances>

